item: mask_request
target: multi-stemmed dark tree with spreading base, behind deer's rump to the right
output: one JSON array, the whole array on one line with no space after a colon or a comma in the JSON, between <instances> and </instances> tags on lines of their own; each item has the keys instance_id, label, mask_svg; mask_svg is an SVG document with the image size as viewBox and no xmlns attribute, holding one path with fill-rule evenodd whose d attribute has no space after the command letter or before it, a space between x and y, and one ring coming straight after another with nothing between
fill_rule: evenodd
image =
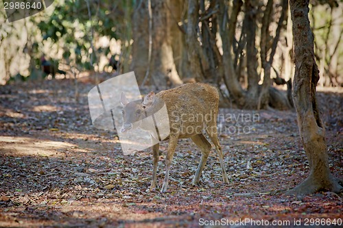
<instances>
[{"instance_id":1,"label":"multi-stemmed dark tree with spreading base, behind deer's rump to the right","mask_svg":"<svg viewBox=\"0 0 343 228\"><path fill-rule=\"evenodd\" d=\"M283 0L282 11L287 11L287 0ZM263 25L261 28L261 62L264 69L263 84L259 85L260 75L258 69L258 58L256 48L257 37L257 12L259 12L259 1L256 0L235 0L233 1L230 17L228 16L228 4L226 1L218 1L219 12L217 14L217 23L219 25L220 36L222 38L222 77L226 88L228 88L230 99L232 99L237 107L246 109L261 109L274 107L279 110L287 110L291 108L287 97L282 92L270 88L272 82L270 79L270 69L274 58L275 49L279 42L279 34L285 13L283 12L279 18L276 36L272 40L272 45L268 45L267 38L270 36L270 21L272 14L272 6L274 1L269 0L266 5L266 10L263 14ZM244 5L244 22L241 29L241 37L235 40L237 19L241 8ZM229 18L229 19L228 19ZM205 44L205 42L204 42ZM243 53L244 49L246 55ZM270 53L268 55L268 53ZM239 61L238 61L239 59ZM239 62L239 63L238 63ZM238 65L238 66L237 66ZM239 81L241 69L246 66L248 86L245 90L242 88ZM220 69L220 67L218 67Z\"/></svg>"}]
</instances>

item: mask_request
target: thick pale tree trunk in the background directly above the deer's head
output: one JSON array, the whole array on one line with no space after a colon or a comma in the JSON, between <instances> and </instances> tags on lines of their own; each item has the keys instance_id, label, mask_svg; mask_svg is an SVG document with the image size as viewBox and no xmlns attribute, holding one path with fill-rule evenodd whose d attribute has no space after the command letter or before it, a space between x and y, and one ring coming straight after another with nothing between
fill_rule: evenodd
<instances>
[{"instance_id":1,"label":"thick pale tree trunk in the background directly above the deer's head","mask_svg":"<svg viewBox=\"0 0 343 228\"><path fill-rule=\"evenodd\" d=\"M132 18L133 38L132 64L138 84L143 82L150 64L148 76L153 84L159 88L167 87L167 83L174 86L182 84L174 64L173 49L171 47L171 15L168 5L178 4L178 1L151 0L152 28L149 28L149 8L147 1L137 1ZM150 34L151 32L151 34ZM152 36L152 55L149 63L149 36ZM151 81L150 81L150 84Z\"/></svg>"}]
</instances>

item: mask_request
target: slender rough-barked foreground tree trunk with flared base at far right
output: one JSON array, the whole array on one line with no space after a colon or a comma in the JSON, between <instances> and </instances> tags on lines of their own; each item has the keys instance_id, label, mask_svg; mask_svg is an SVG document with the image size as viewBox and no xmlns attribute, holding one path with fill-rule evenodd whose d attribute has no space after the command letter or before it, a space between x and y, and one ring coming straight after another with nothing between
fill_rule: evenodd
<instances>
[{"instance_id":1,"label":"slender rough-barked foreground tree trunk with flared base at far right","mask_svg":"<svg viewBox=\"0 0 343 228\"><path fill-rule=\"evenodd\" d=\"M309 0L291 0L289 5L296 64L292 95L300 138L309 160L309 177L289 194L311 194L318 190L340 192L343 188L329 170L325 131L316 101L319 71L314 57L314 35L309 26Z\"/></svg>"}]
</instances>

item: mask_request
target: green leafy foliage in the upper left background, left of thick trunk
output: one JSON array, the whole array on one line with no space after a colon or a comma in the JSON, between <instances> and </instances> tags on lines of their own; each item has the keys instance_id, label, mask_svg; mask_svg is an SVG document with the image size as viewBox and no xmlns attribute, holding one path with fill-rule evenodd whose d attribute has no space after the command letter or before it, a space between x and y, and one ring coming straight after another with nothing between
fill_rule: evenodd
<instances>
[{"instance_id":1,"label":"green leafy foliage in the upper left background, left of thick trunk","mask_svg":"<svg viewBox=\"0 0 343 228\"><path fill-rule=\"evenodd\" d=\"M89 9L87 7L89 3ZM95 43L103 36L109 39L123 39L121 30L124 16L123 7L132 8L132 4L126 1L95 1L95 0L72 0L56 1L54 13L45 21L36 21L43 40L51 43L59 43L62 46L63 58L67 62L93 68L90 62L91 42ZM129 1L130 2L130 1ZM107 55L109 47L95 48L93 53L93 65L97 64L99 55Z\"/></svg>"}]
</instances>

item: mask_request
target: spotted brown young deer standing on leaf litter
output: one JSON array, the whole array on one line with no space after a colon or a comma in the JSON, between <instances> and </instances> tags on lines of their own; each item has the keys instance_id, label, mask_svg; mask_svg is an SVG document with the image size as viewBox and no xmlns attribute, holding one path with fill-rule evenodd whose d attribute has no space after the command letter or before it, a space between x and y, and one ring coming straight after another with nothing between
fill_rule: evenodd
<instances>
[{"instance_id":1,"label":"spotted brown young deer standing on leaf litter","mask_svg":"<svg viewBox=\"0 0 343 228\"><path fill-rule=\"evenodd\" d=\"M202 152L200 163L192 181L194 185L198 185L202 170L204 169L212 147L211 143L205 138L204 131L206 131L215 145L222 169L223 182L228 183L228 175L226 174L223 162L222 147L217 136L219 94L215 87L202 83L183 84L176 88L163 90L157 94L153 91L149 92L141 102L129 102L126 95L121 92L120 101L123 106L121 133L137 127L145 131L152 131L154 126L144 125L142 122L143 118L154 114L164 104L167 107L170 133L165 138L165 140L169 140L169 144L165 156L165 179L161 192L167 191L171 161L173 160L178 139L180 138L191 138ZM156 138L154 134L150 134L150 137ZM157 186L156 173L159 158L159 143L152 146L152 154L153 172L150 190L155 191Z\"/></svg>"}]
</instances>

